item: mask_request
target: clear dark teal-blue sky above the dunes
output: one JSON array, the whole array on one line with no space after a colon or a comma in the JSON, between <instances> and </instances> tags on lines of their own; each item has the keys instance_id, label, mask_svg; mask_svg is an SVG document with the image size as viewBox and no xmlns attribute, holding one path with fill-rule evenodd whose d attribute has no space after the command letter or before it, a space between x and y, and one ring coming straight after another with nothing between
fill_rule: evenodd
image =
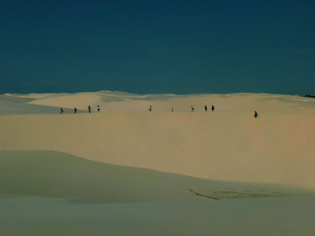
<instances>
[{"instance_id":1,"label":"clear dark teal-blue sky above the dunes","mask_svg":"<svg viewBox=\"0 0 315 236\"><path fill-rule=\"evenodd\" d=\"M315 1L0 0L0 94L315 93Z\"/></svg>"}]
</instances>

